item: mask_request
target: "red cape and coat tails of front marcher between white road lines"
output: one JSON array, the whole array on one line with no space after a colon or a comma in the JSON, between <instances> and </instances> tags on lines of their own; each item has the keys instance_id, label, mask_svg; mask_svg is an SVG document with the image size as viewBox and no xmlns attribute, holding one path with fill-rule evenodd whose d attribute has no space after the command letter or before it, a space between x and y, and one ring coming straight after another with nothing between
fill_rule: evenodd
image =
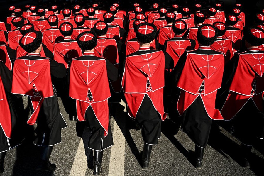
<instances>
[{"instance_id":1,"label":"red cape and coat tails of front marcher between white road lines","mask_svg":"<svg viewBox=\"0 0 264 176\"><path fill-rule=\"evenodd\" d=\"M88 92L92 94L92 101ZM69 96L76 99L78 120L85 121L85 111L92 106L95 116L105 130L104 135L107 136L109 123L107 99L111 94L105 59L72 60Z\"/></svg>"}]
</instances>

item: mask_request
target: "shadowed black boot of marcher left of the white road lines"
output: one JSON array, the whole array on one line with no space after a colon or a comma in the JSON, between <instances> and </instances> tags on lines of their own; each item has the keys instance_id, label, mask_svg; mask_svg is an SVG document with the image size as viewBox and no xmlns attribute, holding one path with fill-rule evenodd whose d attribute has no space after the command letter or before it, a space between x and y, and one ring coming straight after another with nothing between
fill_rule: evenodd
<instances>
[{"instance_id":1,"label":"shadowed black boot of marcher left of the white road lines","mask_svg":"<svg viewBox=\"0 0 264 176\"><path fill-rule=\"evenodd\" d=\"M40 161L39 161L38 166L36 167L37 170L54 172L54 170L56 169L56 165L50 163L50 155L51 155L52 149L53 149L53 146L41 147Z\"/></svg>"}]
</instances>

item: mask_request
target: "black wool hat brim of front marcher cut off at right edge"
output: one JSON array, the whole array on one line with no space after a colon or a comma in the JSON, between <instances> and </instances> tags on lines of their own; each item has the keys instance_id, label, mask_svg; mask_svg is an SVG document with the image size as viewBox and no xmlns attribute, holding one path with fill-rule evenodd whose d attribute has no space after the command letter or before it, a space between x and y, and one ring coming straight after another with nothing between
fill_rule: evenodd
<instances>
[{"instance_id":1,"label":"black wool hat brim of front marcher cut off at right edge","mask_svg":"<svg viewBox=\"0 0 264 176\"><path fill-rule=\"evenodd\" d=\"M259 27L256 27L256 26L250 26L246 29L244 29L244 38L245 40L251 44L252 46L260 46L260 45L263 45L264 44L264 38L258 38L258 37L255 37L252 33L251 33L251 29L253 28L256 28L262 32L263 29L259 28Z\"/></svg>"}]
</instances>

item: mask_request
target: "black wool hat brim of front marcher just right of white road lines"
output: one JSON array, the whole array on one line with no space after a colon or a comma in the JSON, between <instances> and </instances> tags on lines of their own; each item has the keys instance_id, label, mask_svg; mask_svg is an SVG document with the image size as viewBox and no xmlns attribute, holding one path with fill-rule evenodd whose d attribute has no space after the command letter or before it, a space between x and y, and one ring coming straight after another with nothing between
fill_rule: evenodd
<instances>
[{"instance_id":1,"label":"black wool hat brim of front marcher just right of white road lines","mask_svg":"<svg viewBox=\"0 0 264 176\"><path fill-rule=\"evenodd\" d=\"M152 33L149 33L149 34L141 34L140 32L138 32L138 28L140 26L143 26L143 25L148 25L148 26L151 26L153 27L153 31ZM157 33L157 27L153 24L150 24L150 23L141 23L137 26L135 26L135 29L134 29L135 33L136 33L136 37L137 37L137 40L140 42L140 43L150 43L152 42L154 39L155 39L155 36L156 36L156 33Z\"/></svg>"}]
</instances>

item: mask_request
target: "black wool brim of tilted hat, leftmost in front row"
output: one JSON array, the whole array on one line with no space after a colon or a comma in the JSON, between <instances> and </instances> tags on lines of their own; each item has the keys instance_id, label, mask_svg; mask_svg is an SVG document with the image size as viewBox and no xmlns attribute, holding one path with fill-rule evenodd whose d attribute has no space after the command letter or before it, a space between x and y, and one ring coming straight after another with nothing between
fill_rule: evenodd
<instances>
[{"instance_id":1,"label":"black wool brim of tilted hat, leftmost in front row","mask_svg":"<svg viewBox=\"0 0 264 176\"><path fill-rule=\"evenodd\" d=\"M33 40L32 43L28 44L28 45L24 45L22 43L22 38L19 40L19 45L21 46L21 48L23 48L26 52L28 53L32 53L35 50L38 49L38 47L40 47L41 45L41 41L42 41L42 33L39 31L34 31L36 33L36 38Z\"/></svg>"}]
</instances>

